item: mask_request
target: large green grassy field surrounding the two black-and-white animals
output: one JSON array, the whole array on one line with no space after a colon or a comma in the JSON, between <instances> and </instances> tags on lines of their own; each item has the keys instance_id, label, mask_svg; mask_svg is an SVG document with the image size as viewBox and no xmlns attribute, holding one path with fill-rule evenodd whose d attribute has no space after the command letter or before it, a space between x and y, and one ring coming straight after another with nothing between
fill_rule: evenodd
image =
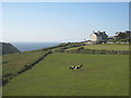
<instances>
[{"instance_id":1,"label":"large green grassy field surrounding the two black-and-white animals","mask_svg":"<svg viewBox=\"0 0 131 98\"><path fill-rule=\"evenodd\" d=\"M3 86L3 96L128 96L128 54L55 52Z\"/></svg>"}]
</instances>

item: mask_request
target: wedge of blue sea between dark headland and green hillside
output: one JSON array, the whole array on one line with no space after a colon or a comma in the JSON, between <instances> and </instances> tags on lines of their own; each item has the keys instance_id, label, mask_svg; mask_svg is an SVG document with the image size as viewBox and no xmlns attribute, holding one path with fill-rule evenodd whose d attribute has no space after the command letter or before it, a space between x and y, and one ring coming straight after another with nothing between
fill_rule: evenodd
<instances>
[{"instance_id":1,"label":"wedge of blue sea between dark headland and green hillside","mask_svg":"<svg viewBox=\"0 0 131 98\"><path fill-rule=\"evenodd\" d=\"M31 51L36 49L43 49L47 47L57 46L62 42L11 42L20 51Z\"/></svg>"}]
</instances>

